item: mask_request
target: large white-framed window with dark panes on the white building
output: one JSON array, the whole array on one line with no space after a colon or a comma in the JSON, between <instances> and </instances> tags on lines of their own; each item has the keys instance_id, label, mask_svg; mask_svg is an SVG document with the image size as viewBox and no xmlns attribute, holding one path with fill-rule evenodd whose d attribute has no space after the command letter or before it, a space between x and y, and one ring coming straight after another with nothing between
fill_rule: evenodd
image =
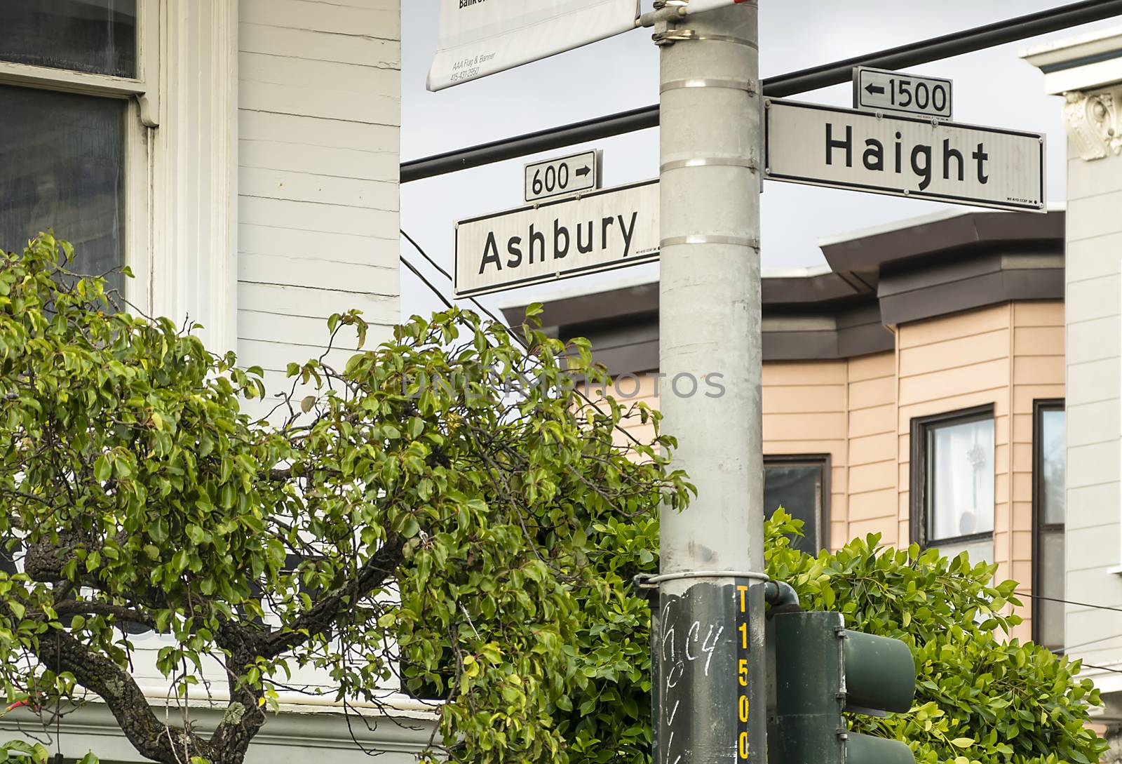
<instances>
[{"instance_id":1,"label":"large white-framed window with dark panes on the white building","mask_svg":"<svg viewBox=\"0 0 1122 764\"><path fill-rule=\"evenodd\" d=\"M0 2L0 248L52 228L74 243L74 270L131 261L129 288L142 287L146 260L129 255L147 249L157 11L156 0Z\"/></svg>"}]
</instances>

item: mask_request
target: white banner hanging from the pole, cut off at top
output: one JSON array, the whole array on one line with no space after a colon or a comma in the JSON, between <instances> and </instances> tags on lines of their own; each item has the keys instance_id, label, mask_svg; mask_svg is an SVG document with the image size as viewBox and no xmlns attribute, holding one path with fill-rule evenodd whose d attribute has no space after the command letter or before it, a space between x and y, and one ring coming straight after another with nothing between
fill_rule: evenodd
<instances>
[{"instance_id":1,"label":"white banner hanging from the pole, cut off at top","mask_svg":"<svg viewBox=\"0 0 1122 764\"><path fill-rule=\"evenodd\" d=\"M628 31L636 18L638 0L440 0L429 90Z\"/></svg>"}]
</instances>

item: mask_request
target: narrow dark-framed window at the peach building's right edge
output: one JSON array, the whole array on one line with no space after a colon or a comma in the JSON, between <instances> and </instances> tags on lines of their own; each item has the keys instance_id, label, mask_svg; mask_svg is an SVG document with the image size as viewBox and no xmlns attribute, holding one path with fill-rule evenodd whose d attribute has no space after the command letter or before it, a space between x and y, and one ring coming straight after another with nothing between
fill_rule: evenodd
<instances>
[{"instance_id":1,"label":"narrow dark-framed window at the peach building's right edge","mask_svg":"<svg viewBox=\"0 0 1122 764\"><path fill-rule=\"evenodd\" d=\"M1032 641L1064 650L1064 521L1067 429L1064 402L1032 404Z\"/></svg>"}]
</instances>

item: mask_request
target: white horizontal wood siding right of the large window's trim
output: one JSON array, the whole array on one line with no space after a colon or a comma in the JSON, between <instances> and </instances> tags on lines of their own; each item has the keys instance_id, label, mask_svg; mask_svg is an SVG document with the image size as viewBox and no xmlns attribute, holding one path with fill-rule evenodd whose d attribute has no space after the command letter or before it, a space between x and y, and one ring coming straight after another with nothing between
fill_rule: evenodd
<instances>
[{"instance_id":1,"label":"white horizontal wood siding right of the large window's trim","mask_svg":"<svg viewBox=\"0 0 1122 764\"><path fill-rule=\"evenodd\" d=\"M360 309L398 321L398 0L241 0L238 350L280 385ZM335 362L355 351L341 335Z\"/></svg>"}]
</instances>

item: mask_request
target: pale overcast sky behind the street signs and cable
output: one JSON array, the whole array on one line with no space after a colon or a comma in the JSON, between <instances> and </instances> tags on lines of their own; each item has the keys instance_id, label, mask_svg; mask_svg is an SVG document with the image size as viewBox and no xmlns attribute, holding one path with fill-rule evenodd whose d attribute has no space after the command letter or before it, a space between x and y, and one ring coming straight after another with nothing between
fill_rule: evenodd
<instances>
[{"instance_id":1,"label":"pale overcast sky behind the street signs and cable","mask_svg":"<svg viewBox=\"0 0 1122 764\"><path fill-rule=\"evenodd\" d=\"M760 0L761 74L783 74L1061 4L1065 2L1056 0ZM644 9L649 6L650 0L644 0ZM430 93L425 74L436 49L438 9L439 0L402 3L403 160L657 101L659 54L650 29ZM1047 132L1048 201L1063 202L1066 138L1061 101L1043 94L1041 73L1018 53L1043 42L1120 25L1122 18L1074 27L908 71L954 81L956 121ZM836 85L794 98L849 107L852 88ZM657 176L657 129L643 130L408 183L402 186L402 227L451 271L452 222L521 205L525 162L601 148L604 184L613 186ZM761 256L765 268L820 265L819 237L947 206L789 183L772 182L764 187ZM451 294L451 285L423 264L406 242L402 248L435 286ZM489 295L482 302L495 309L512 298L541 300L563 288L608 287L620 278L633 278L641 269L652 277L657 273L654 265L636 266ZM403 315L439 307L429 289L403 270Z\"/></svg>"}]
</instances>

